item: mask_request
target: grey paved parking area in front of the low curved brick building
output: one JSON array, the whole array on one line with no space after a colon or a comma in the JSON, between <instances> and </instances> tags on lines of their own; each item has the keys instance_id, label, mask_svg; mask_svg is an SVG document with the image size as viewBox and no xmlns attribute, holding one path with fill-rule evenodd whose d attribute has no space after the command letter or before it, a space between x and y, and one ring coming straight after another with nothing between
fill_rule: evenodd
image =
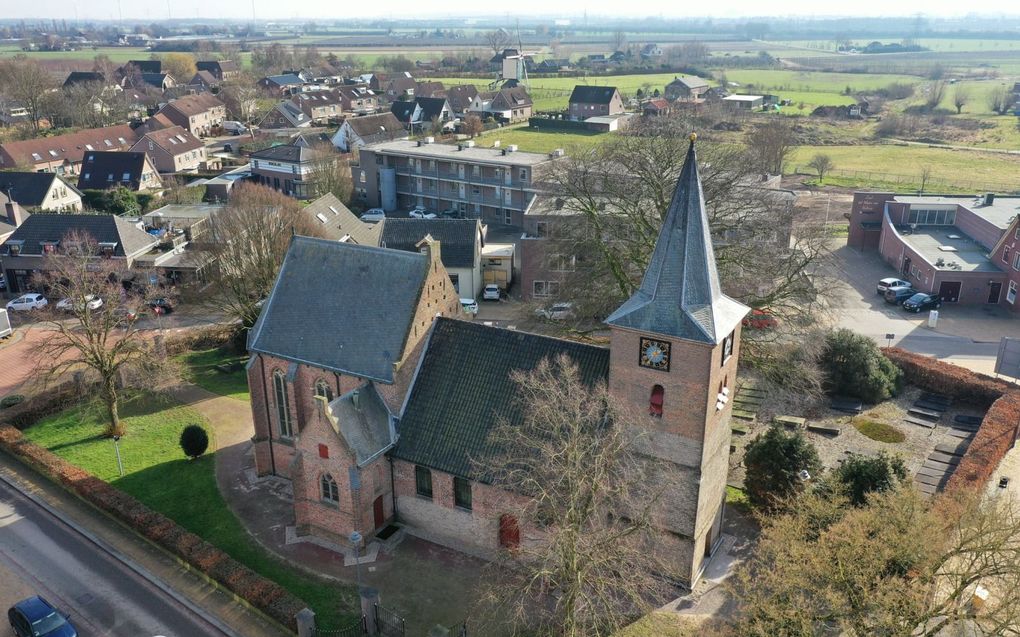
<instances>
[{"instance_id":1,"label":"grey paved parking area in front of the low curved brick building","mask_svg":"<svg viewBox=\"0 0 1020 637\"><path fill-rule=\"evenodd\" d=\"M958 306L946 304L934 327L928 314L911 314L885 303L875 284L898 272L885 264L877 252L858 252L839 246L826 272L835 287L832 321L871 336L882 346L894 344L911 352L991 373L1002 336L1020 338L1020 318L1003 305ZM892 338L886 338L892 334Z\"/></svg>"}]
</instances>

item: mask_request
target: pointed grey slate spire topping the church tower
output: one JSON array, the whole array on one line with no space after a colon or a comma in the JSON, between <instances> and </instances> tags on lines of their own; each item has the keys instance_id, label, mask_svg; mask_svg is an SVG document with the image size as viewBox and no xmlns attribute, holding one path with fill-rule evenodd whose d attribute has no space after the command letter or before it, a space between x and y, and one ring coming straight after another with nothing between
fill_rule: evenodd
<instances>
[{"instance_id":1,"label":"pointed grey slate spire topping the church tower","mask_svg":"<svg viewBox=\"0 0 1020 637\"><path fill-rule=\"evenodd\" d=\"M695 140L692 132L683 170L641 287L606 322L716 344L736 327L748 308L719 287Z\"/></svg>"}]
</instances>

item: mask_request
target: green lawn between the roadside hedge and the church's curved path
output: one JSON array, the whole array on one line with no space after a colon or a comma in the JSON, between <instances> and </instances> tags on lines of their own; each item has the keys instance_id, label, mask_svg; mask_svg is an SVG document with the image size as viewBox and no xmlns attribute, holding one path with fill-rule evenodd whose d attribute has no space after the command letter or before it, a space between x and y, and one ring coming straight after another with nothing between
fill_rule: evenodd
<instances>
[{"instance_id":1,"label":"green lawn between the roadside hedge and the church's curved path","mask_svg":"<svg viewBox=\"0 0 1020 637\"><path fill-rule=\"evenodd\" d=\"M279 583L311 604L323 626L340 626L352 619L339 607L353 607L350 588L288 566L249 537L216 488L212 455L197 461L185 458L177 437L188 424L205 424L200 415L151 395L126 403L120 413L128 429L120 439L123 477L117 473L113 443L102 435L105 424L97 408L69 409L42 420L24 434Z\"/></svg>"}]
</instances>

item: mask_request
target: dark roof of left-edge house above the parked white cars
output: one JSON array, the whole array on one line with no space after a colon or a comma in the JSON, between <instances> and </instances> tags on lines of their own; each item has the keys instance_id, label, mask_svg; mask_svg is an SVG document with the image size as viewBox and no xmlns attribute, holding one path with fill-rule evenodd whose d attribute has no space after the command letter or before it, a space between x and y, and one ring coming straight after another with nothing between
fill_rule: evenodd
<instances>
[{"instance_id":1,"label":"dark roof of left-edge house above the parked white cars","mask_svg":"<svg viewBox=\"0 0 1020 637\"><path fill-rule=\"evenodd\" d=\"M134 255L157 243L154 236L116 215L37 212L14 230L4 244L3 254L8 254L11 242L23 242L21 255L41 255L43 242L58 242L71 230L88 232L98 243L116 244L114 257Z\"/></svg>"}]
</instances>

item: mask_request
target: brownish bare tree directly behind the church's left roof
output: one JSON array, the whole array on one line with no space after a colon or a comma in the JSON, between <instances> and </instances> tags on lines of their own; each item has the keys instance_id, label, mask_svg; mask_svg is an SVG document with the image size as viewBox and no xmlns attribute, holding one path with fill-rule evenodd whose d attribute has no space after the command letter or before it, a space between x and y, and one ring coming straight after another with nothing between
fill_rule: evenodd
<instances>
[{"instance_id":1,"label":"brownish bare tree directly behind the church's left roof","mask_svg":"<svg viewBox=\"0 0 1020 637\"><path fill-rule=\"evenodd\" d=\"M241 183L197 242L215 262L207 303L244 329L255 324L269 296L292 234L319 236L296 199L255 183Z\"/></svg>"}]
</instances>

